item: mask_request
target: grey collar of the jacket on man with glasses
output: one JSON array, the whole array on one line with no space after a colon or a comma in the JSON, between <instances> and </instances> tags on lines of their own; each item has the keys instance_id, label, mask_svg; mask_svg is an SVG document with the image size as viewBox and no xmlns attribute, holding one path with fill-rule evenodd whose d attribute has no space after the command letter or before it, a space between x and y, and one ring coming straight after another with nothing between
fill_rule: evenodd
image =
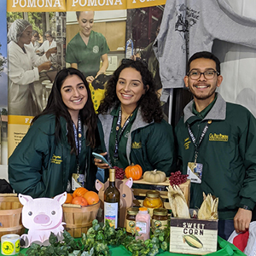
<instances>
[{"instance_id":1,"label":"grey collar of the jacket on man with glasses","mask_svg":"<svg viewBox=\"0 0 256 256\"><path fill-rule=\"evenodd\" d=\"M224 120L226 118L226 102L218 92L216 92L216 94L217 100L203 120ZM192 112L193 104L194 100L189 102L189 104L184 108L184 123L187 122L190 118L195 117L195 114Z\"/></svg>"}]
</instances>

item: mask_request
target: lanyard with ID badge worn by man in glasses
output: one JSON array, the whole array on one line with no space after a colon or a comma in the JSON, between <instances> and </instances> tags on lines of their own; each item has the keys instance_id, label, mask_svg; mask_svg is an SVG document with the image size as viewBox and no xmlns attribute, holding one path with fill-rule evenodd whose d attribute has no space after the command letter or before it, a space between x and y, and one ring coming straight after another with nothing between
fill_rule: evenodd
<instances>
[{"instance_id":1,"label":"lanyard with ID badge worn by man in glasses","mask_svg":"<svg viewBox=\"0 0 256 256\"><path fill-rule=\"evenodd\" d=\"M188 162L188 167L187 167L187 174L189 175L188 178L190 179L191 183L201 183L203 165L201 163L197 163L196 160L199 154L199 147L201 145L201 141L205 137L207 133L207 129L209 128L209 125L211 123L212 123L212 120L208 120L207 125L205 126L204 130L201 133L201 137L198 143L196 143L195 136L188 124L189 136L191 137L191 140L195 145L195 161Z\"/></svg>"}]
</instances>

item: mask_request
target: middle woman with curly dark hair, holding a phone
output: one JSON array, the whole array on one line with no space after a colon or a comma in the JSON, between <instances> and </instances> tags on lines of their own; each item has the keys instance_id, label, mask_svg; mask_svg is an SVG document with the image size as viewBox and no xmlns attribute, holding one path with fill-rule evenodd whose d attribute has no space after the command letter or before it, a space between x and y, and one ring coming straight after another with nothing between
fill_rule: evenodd
<instances>
[{"instance_id":1,"label":"middle woman with curly dark hair, holding a phone","mask_svg":"<svg viewBox=\"0 0 256 256\"><path fill-rule=\"evenodd\" d=\"M146 62L124 59L109 79L98 109L102 155L112 166L138 164L143 172L175 171L172 126L163 119L160 100ZM95 159L96 166L109 166Z\"/></svg>"}]
</instances>

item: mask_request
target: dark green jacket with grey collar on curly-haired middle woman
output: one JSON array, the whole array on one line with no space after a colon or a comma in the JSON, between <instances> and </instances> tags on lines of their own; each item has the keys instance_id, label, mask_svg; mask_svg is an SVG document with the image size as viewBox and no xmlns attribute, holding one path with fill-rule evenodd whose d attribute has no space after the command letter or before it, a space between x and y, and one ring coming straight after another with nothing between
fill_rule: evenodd
<instances>
[{"instance_id":1,"label":"dark green jacket with grey collar on curly-haired middle woman","mask_svg":"<svg viewBox=\"0 0 256 256\"><path fill-rule=\"evenodd\" d=\"M113 115L99 115L99 132L102 140L102 151L108 152L109 137L112 131ZM143 121L141 110L138 109L137 117L131 125L126 148L129 164L142 166L143 172L154 169L166 172L170 176L175 171L175 150L172 126L165 120L160 123L146 123Z\"/></svg>"}]
</instances>

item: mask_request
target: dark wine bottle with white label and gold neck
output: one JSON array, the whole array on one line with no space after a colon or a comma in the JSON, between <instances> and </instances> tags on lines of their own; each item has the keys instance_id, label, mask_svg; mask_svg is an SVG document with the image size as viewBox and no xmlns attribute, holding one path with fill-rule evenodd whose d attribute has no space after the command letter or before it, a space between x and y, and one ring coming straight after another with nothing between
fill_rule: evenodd
<instances>
[{"instance_id":1,"label":"dark wine bottle with white label and gold neck","mask_svg":"<svg viewBox=\"0 0 256 256\"><path fill-rule=\"evenodd\" d=\"M120 192L115 187L115 169L109 169L109 186L104 192L104 223L108 219L109 224L115 229L118 227Z\"/></svg>"}]
</instances>

